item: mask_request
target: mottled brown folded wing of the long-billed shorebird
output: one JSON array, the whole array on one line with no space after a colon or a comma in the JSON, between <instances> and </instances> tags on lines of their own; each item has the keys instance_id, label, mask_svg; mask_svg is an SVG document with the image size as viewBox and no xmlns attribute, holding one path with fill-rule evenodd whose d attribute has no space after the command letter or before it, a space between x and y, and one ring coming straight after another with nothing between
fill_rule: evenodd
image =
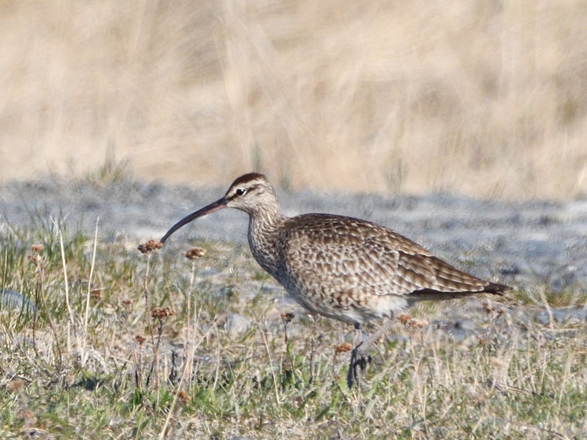
<instances>
[{"instance_id":1,"label":"mottled brown folded wing of the long-billed shorebird","mask_svg":"<svg viewBox=\"0 0 587 440\"><path fill-rule=\"evenodd\" d=\"M359 219L289 219L280 241L292 283L322 295L482 292L491 283L462 272L390 229ZM300 286L301 287L301 286Z\"/></svg>"}]
</instances>

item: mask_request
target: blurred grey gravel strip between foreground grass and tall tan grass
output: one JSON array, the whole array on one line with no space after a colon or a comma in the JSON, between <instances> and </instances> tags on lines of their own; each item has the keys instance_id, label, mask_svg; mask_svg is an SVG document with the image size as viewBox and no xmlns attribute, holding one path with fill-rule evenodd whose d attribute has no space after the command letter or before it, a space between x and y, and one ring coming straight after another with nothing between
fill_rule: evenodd
<instances>
[{"instance_id":1,"label":"blurred grey gravel strip between foreground grass and tall tan grass","mask_svg":"<svg viewBox=\"0 0 587 440\"><path fill-rule=\"evenodd\" d=\"M0 233L32 218L65 218L93 235L126 233L137 243L160 238L183 216L224 195L225 187L117 182L65 182L47 178L0 187ZM501 202L452 195L315 194L278 189L286 215L328 212L369 219L420 243L481 277L517 286L546 283L554 292L587 289L587 200ZM247 241L247 216L234 209L198 219L174 235Z\"/></svg>"}]
</instances>

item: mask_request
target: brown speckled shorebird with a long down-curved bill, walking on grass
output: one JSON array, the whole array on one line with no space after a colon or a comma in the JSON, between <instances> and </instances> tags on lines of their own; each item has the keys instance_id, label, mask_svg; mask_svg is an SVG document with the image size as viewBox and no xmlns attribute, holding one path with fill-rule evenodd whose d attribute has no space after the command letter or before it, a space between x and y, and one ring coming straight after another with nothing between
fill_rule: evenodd
<instances>
[{"instance_id":1,"label":"brown speckled shorebird with a long down-curved bill, walking on grass","mask_svg":"<svg viewBox=\"0 0 587 440\"><path fill-rule=\"evenodd\" d=\"M370 360L369 347L392 326L389 319L366 341L361 325L393 318L421 300L447 300L511 289L479 279L436 258L416 242L373 222L330 214L287 217L263 174L237 178L221 199L171 226L169 236L191 221L223 208L249 215L248 242L255 260L296 302L355 326L349 388Z\"/></svg>"}]
</instances>

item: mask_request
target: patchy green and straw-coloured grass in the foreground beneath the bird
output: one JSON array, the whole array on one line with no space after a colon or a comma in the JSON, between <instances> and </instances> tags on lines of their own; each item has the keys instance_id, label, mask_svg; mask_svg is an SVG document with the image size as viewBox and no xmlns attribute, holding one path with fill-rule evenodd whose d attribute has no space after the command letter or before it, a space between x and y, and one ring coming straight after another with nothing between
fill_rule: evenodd
<instances>
[{"instance_id":1,"label":"patchy green and straw-coloured grass in the foreground beneath the bird","mask_svg":"<svg viewBox=\"0 0 587 440\"><path fill-rule=\"evenodd\" d=\"M195 243L207 254L192 263L179 243L147 258L132 239L99 234L95 243L40 217L10 231L0 237L2 282L39 308L0 312L2 438L34 429L101 439L522 439L581 438L587 429L585 323L544 329L518 319L544 300L576 305L579 292L560 299L537 287L497 304L507 313L475 309L485 333L458 342L398 323L406 341L379 344L367 381L349 390L349 353L333 347L352 328L328 319L284 325L279 315L294 307L262 293L274 282L247 248ZM43 244L36 264L35 243ZM478 303L423 304L414 314L443 319ZM147 304L176 313L149 318ZM231 333L228 313L251 329Z\"/></svg>"}]
</instances>

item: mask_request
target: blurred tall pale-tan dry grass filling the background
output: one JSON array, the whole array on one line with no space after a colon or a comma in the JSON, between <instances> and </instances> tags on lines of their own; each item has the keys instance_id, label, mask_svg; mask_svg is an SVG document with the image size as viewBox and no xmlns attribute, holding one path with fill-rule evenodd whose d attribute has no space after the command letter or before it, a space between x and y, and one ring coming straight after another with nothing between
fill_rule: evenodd
<instances>
[{"instance_id":1,"label":"blurred tall pale-tan dry grass filling the background","mask_svg":"<svg viewBox=\"0 0 587 440\"><path fill-rule=\"evenodd\" d=\"M583 1L0 2L0 176L587 193Z\"/></svg>"}]
</instances>

